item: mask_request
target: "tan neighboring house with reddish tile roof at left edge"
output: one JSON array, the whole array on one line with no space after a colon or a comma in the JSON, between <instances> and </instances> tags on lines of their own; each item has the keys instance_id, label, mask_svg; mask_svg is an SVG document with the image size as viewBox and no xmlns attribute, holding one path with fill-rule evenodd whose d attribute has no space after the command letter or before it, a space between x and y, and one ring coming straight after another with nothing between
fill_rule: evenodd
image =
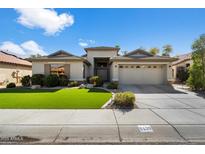
<instances>
[{"instance_id":1,"label":"tan neighboring house with reddish tile roof at left edge","mask_svg":"<svg viewBox=\"0 0 205 154\"><path fill-rule=\"evenodd\" d=\"M0 85L20 83L25 75L31 75L31 63L15 55L0 51Z\"/></svg>"}]
</instances>

